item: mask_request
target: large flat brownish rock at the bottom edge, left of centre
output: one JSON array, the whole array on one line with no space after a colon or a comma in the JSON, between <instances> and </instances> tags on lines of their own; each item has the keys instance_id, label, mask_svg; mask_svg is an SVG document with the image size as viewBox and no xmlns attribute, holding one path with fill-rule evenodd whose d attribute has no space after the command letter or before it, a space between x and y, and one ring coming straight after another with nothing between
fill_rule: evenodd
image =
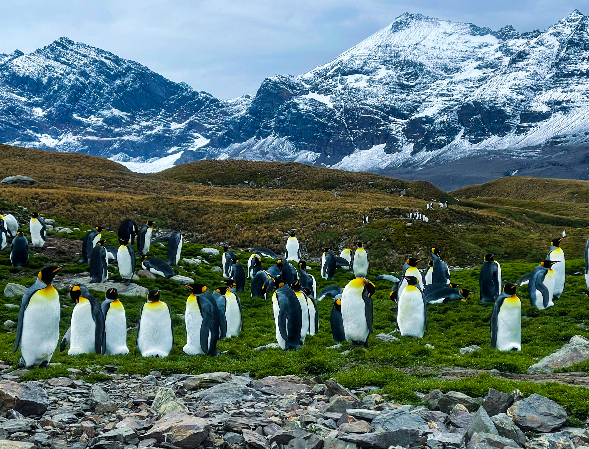
<instances>
[{"instance_id":1,"label":"large flat brownish rock at the bottom edge, left of centre","mask_svg":"<svg viewBox=\"0 0 589 449\"><path fill-rule=\"evenodd\" d=\"M209 422L182 412L171 412L156 421L143 440L154 438L157 443L171 443L183 449L198 447L209 436Z\"/></svg>"}]
</instances>

